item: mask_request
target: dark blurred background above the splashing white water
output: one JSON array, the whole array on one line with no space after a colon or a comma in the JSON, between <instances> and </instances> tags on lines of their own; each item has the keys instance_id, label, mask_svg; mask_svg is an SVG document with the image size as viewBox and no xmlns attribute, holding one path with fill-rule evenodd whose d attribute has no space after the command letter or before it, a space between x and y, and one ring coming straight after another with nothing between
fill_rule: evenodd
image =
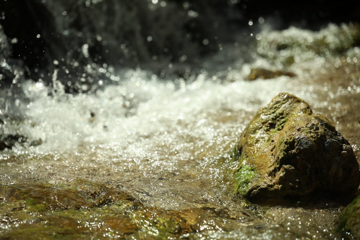
<instances>
[{"instance_id":1,"label":"dark blurred background above the splashing white water","mask_svg":"<svg viewBox=\"0 0 360 240\"><path fill-rule=\"evenodd\" d=\"M167 0L164 7L160 3L1 0L0 60L8 66L0 67L0 86L18 72L51 82L57 68L69 82L91 83L105 78L99 72L104 66L157 73L169 63L181 62L183 55L187 64L197 64L202 56L216 53L219 44L235 41L233 33L247 31L249 20L256 25L259 17L274 29L318 30L329 22L360 22L359 1ZM147 41L148 36L153 40ZM89 55L83 53L84 44Z\"/></svg>"}]
</instances>

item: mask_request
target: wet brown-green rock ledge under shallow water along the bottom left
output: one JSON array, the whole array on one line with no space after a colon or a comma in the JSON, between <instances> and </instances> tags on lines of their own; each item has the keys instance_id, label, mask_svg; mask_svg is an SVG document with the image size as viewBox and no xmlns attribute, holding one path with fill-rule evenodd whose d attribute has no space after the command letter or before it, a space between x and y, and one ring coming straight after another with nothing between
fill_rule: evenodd
<instances>
[{"instance_id":1,"label":"wet brown-green rock ledge under shallow water along the bottom left","mask_svg":"<svg viewBox=\"0 0 360 240\"><path fill-rule=\"evenodd\" d=\"M221 218L229 217L229 210L220 211L210 204L163 209L141 201L137 194L114 182L81 179L1 185L0 207L0 227L10 229L0 231L1 239L187 238L204 222L227 231L238 224L235 214L225 225Z\"/></svg>"}]
</instances>

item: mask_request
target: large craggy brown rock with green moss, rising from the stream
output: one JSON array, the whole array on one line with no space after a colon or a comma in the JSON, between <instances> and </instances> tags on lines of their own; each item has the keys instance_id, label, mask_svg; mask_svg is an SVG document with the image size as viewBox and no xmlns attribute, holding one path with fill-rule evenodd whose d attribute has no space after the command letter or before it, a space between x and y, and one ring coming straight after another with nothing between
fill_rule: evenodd
<instances>
[{"instance_id":1,"label":"large craggy brown rock with green moss, rising from the stream","mask_svg":"<svg viewBox=\"0 0 360 240\"><path fill-rule=\"evenodd\" d=\"M328 119L287 93L258 110L234 158L243 166L235 174L242 181L237 191L253 203L349 202L359 186L359 165L348 141Z\"/></svg>"}]
</instances>

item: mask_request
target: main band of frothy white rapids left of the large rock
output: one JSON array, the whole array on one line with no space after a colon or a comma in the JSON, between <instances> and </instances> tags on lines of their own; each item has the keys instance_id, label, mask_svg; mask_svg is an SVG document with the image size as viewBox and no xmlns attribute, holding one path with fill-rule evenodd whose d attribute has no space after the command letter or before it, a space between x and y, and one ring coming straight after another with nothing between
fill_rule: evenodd
<instances>
[{"instance_id":1,"label":"main band of frothy white rapids left of the large rock","mask_svg":"<svg viewBox=\"0 0 360 240\"><path fill-rule=\"evenodd\" d=\"M288 77L244 81L239 73L231 73L236 80L231 83L215 82L201 74L192 83L181 83L180 89L145 71L129 70L121 78L125 80L96 93L57 91L53 96L49 96L51 87L29 80L22 84L27 98L16 104L23 122L6 126L5 133L15 133L16 127L30 141L41 139L41 145L26 148L34 153L101 144L120 155L153 158L159 154L154 154L155 149L165 145L164 151L177 151L180 155L176 157L183 159L213 144L220 153L236 140L253 113L279 92L319 104L312 92L321 90ZM21 146L14 149L24 150Z\"/></svg>"}]
</instances>

